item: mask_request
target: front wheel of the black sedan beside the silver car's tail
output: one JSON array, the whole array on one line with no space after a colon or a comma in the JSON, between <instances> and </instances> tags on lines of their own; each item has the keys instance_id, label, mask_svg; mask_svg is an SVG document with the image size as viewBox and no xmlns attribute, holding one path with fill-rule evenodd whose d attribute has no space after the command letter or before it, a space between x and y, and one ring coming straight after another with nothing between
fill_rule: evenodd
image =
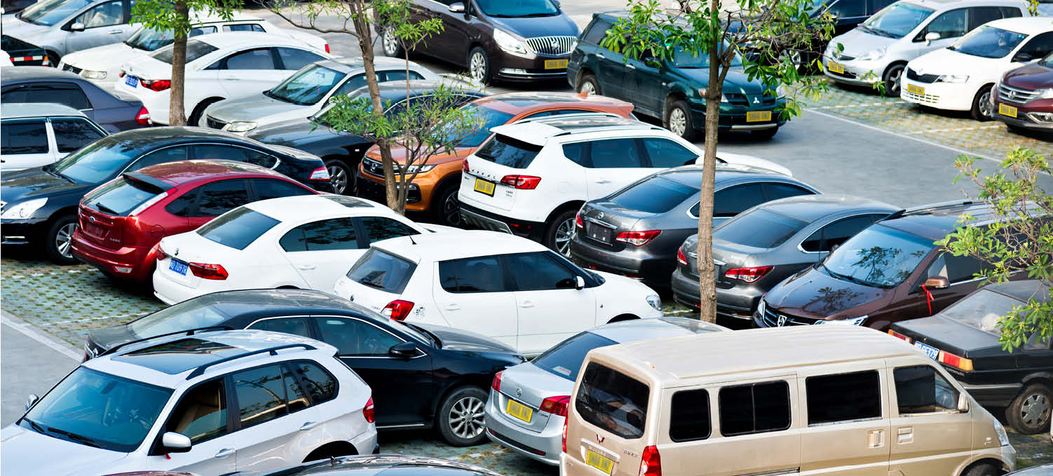
<instances>
[{"instance_id":1,"label":"front wheel of the black sedan beside the silver car's tail","mask_svg":"<svg viewBox=\"0 0 1053 476\"><path fill-rule=\"evenodd\" d=\"M461 386L439 405L435 425L454 447L474 447L486 441L485 406L490 395L478 386Z\"/></svg>"}]
</instances>

